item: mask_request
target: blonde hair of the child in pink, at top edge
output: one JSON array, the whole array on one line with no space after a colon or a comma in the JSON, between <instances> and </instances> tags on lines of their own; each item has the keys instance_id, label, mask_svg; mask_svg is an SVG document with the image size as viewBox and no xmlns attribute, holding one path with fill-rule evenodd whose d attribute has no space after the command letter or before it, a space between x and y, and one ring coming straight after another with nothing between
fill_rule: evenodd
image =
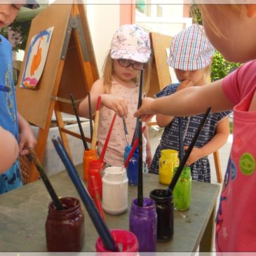
<instances>
[{"instance_id":1,"label":"blonde hair of the child in pink, at top edge","mask_svg":"<svg viewBox=\"0 0 256 256\"><path fill-rule=\"evenodd\" d=\"M246 13L246 7L244 4L232 4L234 3L234 0L227 1L229 1L230 4L198 4L192 6L191 15L195 18L196 13L198 12L199 9L202 13L203 22L207 23L208 26L212 27L213 33L215 33L216 36L218 36L219 38L225 38L226 36L222 34L222 32L220 32L219 27L215 25L215 22L213 22L213 14L209 11L207 7L210 6L211 8L215 8L218 11L220 11L220 13L222 13L223 15L225 15L227 10L231 10L234 14L238 15L239 18L241 18L244 15L244 13Z\"/></svg>"}]
</instances>

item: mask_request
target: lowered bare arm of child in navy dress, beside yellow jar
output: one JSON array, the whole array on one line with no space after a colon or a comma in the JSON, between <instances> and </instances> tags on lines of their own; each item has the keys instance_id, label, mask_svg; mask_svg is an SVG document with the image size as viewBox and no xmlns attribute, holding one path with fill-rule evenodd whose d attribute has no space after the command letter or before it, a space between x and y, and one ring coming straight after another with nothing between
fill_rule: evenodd
<instances>
[{"instance_id":1,"label":"lowered bare arm of child in navy dress, beside yellow jar","mask_svg":"<svg viewBox=\"0 0 256 256\"><path fill-rule=\"evenodd\" d=\"M191 151L189 159L187 159L187 166L190 166L192 163L201 159L204 156L208 156L213 152L220 149L226 142L229 137L229 117L225 117L219 123L217 123L216 133L213 138L201 148L194 147ZM185 150L188 149L188 146L184 147Z\"/></svg>"}]
</instances>

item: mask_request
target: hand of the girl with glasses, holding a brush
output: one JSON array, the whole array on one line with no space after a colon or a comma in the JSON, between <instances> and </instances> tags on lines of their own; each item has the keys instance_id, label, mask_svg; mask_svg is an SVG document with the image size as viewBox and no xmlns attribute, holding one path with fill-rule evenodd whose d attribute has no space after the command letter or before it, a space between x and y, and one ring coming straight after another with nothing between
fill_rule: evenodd
<instances>
[{"instance_id":1,"label":"hand of the girl with glasses, holding a brush","mask_svg":"<svg viewBox=\"0 0 256 256\"><path fill-rule=\"evenodd\" d=\"M100 96L101 102L103 105L105 105L105 107L112 109L120 117L127 117L128 107L123 97L110 94L102 94Z\"/></svg>"}]
</instances>

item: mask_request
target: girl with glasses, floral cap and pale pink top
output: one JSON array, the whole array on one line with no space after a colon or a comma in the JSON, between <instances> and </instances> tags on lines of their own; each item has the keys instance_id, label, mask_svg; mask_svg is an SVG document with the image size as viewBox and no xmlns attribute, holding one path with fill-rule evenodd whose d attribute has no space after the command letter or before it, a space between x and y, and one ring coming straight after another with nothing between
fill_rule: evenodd
<instances>
[{"instance_id":1,"label":"girl with glasses, floral cap and pale pink top","mask_svg":"<svg viewBox=\"0 0 256 256\"><path fill-rule=\"evenodd\" d=\"M111 48L105 60L103 78L93 83L90 90L92 113L95 113L97 98L101 96L99 126L97 133L98 151L101 153L110 123L114 114L118 114L105 154L108 166L123 166L123 154L127 145L121 116L126 117L129 144L133 139L136 119L133 113L137 109L141 69L144 71L144 92L147 91L150 74L149 33L137 25L123 25L116 30ZM82 116L89 117L88 97L79 105ZM147 166L151 164L151 149L147 136Z\"/></svg>"}]
</instances>

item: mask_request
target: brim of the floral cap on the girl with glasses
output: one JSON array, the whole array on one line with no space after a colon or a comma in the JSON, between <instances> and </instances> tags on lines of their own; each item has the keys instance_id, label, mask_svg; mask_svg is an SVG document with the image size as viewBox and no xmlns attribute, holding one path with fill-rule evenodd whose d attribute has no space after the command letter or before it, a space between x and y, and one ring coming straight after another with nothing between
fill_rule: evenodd
<instances>
[{"instance_id":1,"label":"brim of the floral cap on the girl with glasses","mask_svg":"<svg viewBox=\"0 0 256 256\"><path fill-rule=\"evenodd\" d=\"M126 60L134 60L140 63L146 63L149 61L151 55L151 50L146 50L144 53L138 53L137 51L132 50L115 50L112 49L110 51L110 57L112 59L126 59Z\"/></svg>"}]
</instances>

